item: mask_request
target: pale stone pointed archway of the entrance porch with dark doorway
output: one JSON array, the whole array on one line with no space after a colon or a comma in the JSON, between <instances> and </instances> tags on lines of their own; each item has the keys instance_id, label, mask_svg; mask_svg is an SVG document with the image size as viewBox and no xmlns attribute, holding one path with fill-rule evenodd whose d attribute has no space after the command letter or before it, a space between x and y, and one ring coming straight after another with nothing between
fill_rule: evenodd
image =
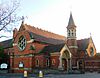
<instances>
[{"instance_id":1,"label":"pale stone pointed archway of the entrance porch with dark doorway","mask_svg":"<svg viewBox=\"0 0 100 78\"><path fill-rule=\"evenodd\" d=\"M67 71L71 69L71 53L69 50L65 49L61 51L59 60L59 69Z\"/></svg>"}]
</instances>

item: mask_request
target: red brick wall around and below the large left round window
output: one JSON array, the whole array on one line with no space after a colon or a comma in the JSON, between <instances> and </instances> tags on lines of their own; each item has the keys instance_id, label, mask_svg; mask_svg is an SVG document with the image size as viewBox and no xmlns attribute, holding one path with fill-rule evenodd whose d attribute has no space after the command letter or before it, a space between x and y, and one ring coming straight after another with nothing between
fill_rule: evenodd
<instances>
[{"instance_id":1,"label":"red brick wall around and below the large left round window","mask_svg":"<svg viewBox=\"0 0 100 78\"><path fill-rule=\"evenodd\" d=\"M20 38L20 36L25 36L26 40L27 41L30 41L31 38L30 38L30 35L27 31L21 31L21 32L18 32L15 39L14 39L14 44L17 44L18 43L18 40ZM30 46L31 45L34 45L35 46L35 50L30 50ZM30 57L25 57L24 55L25 54L30 54L30 53L38 53L40 52L44 46L46 46L46 44L43 44L43 43L39 43L39 42L31 42L31 43L27 43L26 45L26 48L23 50L23 51L20 51L18 46L13 46L14 50L14 68L18 68L18 64L20 61L22 61L24 63L24 68L35 68L35 60L36 59L39 59L39 67L43 68L44 67L44 57L43 55L37 55L37 56L34 56L33 58L30 56ZM22 55L22 57L16 57L17 55ZM32 64L32 59L33 59L33 64ZM12 64L12 59L10 59L10 62ZM12 68L12 66L11 66ZM15 70L15 72L23 72L22 69L19 69L19 70Z\"/></svg>"}]
</instances>

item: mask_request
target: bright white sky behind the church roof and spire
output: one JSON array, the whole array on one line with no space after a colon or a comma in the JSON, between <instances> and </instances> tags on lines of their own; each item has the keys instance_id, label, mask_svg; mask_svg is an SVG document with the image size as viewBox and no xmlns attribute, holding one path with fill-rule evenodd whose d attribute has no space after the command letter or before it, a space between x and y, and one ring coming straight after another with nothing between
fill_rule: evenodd
<instances>
[{"instance_id":1,"label":"bright white sky behind the church roof and spire","mask_svg":"<svg viewBox=\"0 0 100 78\"><path fill-rule=\"evenodd\" d=\"M70 11L77 39L89 38L91 33L100 52L100 0L22 0L18 14L27 16L25 23L29 25L67 36Z\"/></svg>"}]
</instances>

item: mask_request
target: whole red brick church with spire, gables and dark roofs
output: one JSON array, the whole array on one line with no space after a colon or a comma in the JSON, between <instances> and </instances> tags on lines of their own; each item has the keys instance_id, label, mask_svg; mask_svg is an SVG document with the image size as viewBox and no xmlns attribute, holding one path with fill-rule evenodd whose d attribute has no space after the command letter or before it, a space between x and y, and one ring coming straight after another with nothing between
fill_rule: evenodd
<instances>
[{"instance_id":1,"label":"whole red brick church with spire, gables and dark roofs","mask_svg":"<svg viewBox=\"0 0 100 78\"><path fill-rule=\"evenodd\" d=\"M10 56L10 69L31 72L38 68L98 71L100 56L92 37L77 40L76 25L70 14L67 37L27 24L13 30L13 39L0 42Z\"/></svg>"}]
</instances>

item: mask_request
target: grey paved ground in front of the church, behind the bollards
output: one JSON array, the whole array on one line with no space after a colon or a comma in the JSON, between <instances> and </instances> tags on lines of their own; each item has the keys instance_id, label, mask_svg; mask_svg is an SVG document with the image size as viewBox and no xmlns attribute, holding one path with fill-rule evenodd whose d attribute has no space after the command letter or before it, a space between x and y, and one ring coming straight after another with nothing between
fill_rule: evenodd
<instances>
[{"instance_id":1,"label":"grey paved ground in front of the church, behind the bollards","mask_svg":"<svg viewBox=\"0 0 100 78\"><path fill-rule=\"evenodd\" d=\"M24 78L23 74L3 74L0 78ZM31 74L28 78L39 78L38 76ZM99 73L85 73L85 74L48 74L43 78L100 78Z\"/></svg>"}]
</instances>

